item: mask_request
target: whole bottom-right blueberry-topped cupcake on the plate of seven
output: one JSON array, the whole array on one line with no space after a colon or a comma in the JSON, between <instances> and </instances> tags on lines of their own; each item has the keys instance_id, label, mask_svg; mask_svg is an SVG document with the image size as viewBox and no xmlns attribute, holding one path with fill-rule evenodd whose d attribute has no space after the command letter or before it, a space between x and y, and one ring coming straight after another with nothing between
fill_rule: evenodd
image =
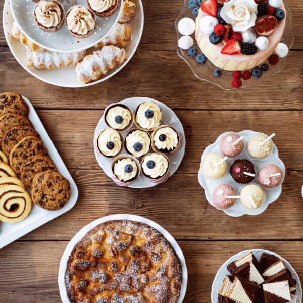
<instances>
[{"instance_id":1,"label":"whole bottom-right blueberry-topped cupcake on the plate of seven","mask_svg":"<svg viewBox=\"0 0 303 303\"><path fill-rule=\"evenodd\" d=\"M160 153L146 155L141 162L143 175L151 182L163 183L169 178L168 158Z\"/></svg>"}]
</instances>

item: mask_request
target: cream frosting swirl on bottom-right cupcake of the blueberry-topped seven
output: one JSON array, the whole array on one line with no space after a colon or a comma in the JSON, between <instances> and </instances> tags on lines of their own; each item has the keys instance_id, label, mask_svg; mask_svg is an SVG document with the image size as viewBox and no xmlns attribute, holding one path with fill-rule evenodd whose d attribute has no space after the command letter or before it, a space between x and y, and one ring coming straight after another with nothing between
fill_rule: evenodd
<instances>
[{"instance_id":1,"label":"cream frosting swirl on bottom-right cupcake of the blueberry-topped seven","mask_svg":"<svg viewBox=\"0 0 303 303\"><path fill-rule=\"evenodd\" d=\"M148 168L148 161L153 161L155 163L155 166L153 168ZM145 175L155 179L158 177L162 177L167 172L168 165L168 161L163 155L154 153L147 155L144 158L142 163L142 169Z\"/></svg>"}]
</instances>

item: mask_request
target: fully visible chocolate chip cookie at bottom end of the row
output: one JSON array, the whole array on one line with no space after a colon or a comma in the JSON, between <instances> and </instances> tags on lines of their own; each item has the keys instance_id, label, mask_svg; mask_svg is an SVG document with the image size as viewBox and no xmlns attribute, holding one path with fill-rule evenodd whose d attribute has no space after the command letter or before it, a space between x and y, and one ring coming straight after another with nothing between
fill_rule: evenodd
<instances>
[{"instance_id":1,"label":"fully visible chocolate chip cookie at bottom end of the row","mask_svg":"<svg viewBox=\"0 0 303 303\"><path fill-rule=\"evenodd\" d=\"M40 208L48 211L60 210L70 197L70 183L60 173L46 171L35 175L32 183L32 199Z\"/></svg>"}]
</instances>

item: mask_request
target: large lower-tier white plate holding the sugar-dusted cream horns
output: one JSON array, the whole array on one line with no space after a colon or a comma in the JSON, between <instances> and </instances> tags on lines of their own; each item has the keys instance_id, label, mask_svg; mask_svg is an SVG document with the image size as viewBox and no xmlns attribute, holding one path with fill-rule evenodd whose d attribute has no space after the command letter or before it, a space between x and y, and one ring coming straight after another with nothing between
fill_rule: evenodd
<instances>
[{"instance_id":1,"label":"large lower-tier white plate holding the sugar-dusted cream horns","mask_svg":"<svg viewBox=\"0 0 303 303\"><path fill-rule=\"evenodd\" d=\"M125 51L128 55L128 59L121 65L116 68L110 70L106 76L100 78L97 81L83 84L77 79L75 66L62 67L60 69L55 68L52 70L48 69L36 69L34 67L29 68L27 66L27 56L26 56L26 48L20 44L20 41L14 39L11 35L11 30L13 27L14 18L10 9L10 0L6 0L3 9L3 28L6 41L11 49L12 54L19 62L19 64L31 75L36 77L37 79L61 87L86 87L90 85L95 85L101 83L103 81L108 80L115 74L117 74L121 69L123 69L126 64L130 61L133 55L136 52L136 49L140 43L143 25L144 25L144 13L143 13L143 5L141 0L134 0L136 3L136 16L132 18L129 22L133 26L133 35L132 41L129 46L125 47ZM89 50L90 52L96 50L93 48Z\"/></svg>"}]
</instances>

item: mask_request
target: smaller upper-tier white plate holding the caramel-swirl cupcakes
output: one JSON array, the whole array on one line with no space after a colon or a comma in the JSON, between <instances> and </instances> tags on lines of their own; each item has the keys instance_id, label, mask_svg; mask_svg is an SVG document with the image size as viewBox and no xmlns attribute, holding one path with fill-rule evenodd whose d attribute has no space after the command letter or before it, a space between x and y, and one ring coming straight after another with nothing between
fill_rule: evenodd
<instances>
[{"instance_id":1,"label":"smaller upper-tier white plate holding the caramel-swirl cupcakes","mask_svg":"<svg viewBox=\"0 0 303 303\"><path fill-rule=\"evenodd\" d=\"M65 24L62 28L54 33L47 33L41 30L34 19L33 12L37 3L32 0L10 0L11 10L19 25L21 31L30 39L34 40L36 44L49 51L55 52L75 52L83 51L93 47L95 44L104 39L107 34L114 28L122 13L122 0L119 1L117 11L108 18L96 17L96 28L93 34L85 39L77 39L73 37ZM86 0L77 0L78 5L87 7ZM65 13L71 7L64 3Z\"/></svg>"}]
</instances>

